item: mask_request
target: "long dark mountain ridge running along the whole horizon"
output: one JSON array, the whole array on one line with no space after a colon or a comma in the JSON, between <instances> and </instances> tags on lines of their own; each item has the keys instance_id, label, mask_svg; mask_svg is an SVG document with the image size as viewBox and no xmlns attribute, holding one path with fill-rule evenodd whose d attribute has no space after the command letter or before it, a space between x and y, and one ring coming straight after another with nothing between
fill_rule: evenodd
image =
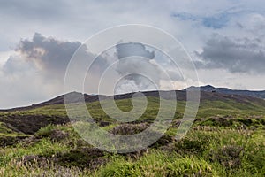
<instances>
[{"instance_id":1,"label":"long dark mountain ridge running along the whole horizon","mask_svg":"<svg viewBox=\"0 0 265 177\"><path fill-rule=\"evenodd\" d=\"M244 103L244 104L260 104L265 106L265 91L250 91L250 90L234 90L234 89L227 89L227 88L215 88L213 86L207 85L202 86L200 88L197 87L190 87L190 90L197 90L201 89L201 96L200 101L233 101L236 103ZM184 90L169 90L169 91L144 91L140 92L145 96L152 96L152 97L162 97L166 100L172 100L177 98L177 101L186 101L186 89ZM133 93L126 93L120 94L115 96L105 96L105 95L87 95L81 94L79 92L70 92L65 95L57 96L52 98L48 101L42 102L40 104L32 104L30 106L13 108L9 110L0 110L0 112L6 111L19 111L19 110L30 110L42 106L47 105L54 105L54 104L64 104L64 99L68 100L71 103L78 103L81 101L85 101L86 103L93 103L96 101L110 99L114 97L115 100L123 100L132 98L135 94ZM175 96L174 96L175 95Z\"/></svg>"}]
</instances>

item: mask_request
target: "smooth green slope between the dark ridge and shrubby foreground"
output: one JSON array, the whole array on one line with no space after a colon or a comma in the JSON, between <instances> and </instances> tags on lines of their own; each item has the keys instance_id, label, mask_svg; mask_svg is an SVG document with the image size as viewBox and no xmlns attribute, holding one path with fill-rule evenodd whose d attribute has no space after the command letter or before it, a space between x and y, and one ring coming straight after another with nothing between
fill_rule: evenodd
<instances>
[{"instance_id":1,"label":"smooth green slope between the dark ridge and shrubby foreground","mask_svg":"<svg viewBox=\"0 0 265 177\"><path fill-rule=\"evenodd\" d=\"M140 117L139 121L153 120L159 110L159 92L142 92L148 97L148 108ZM174 101L174 93L177 95L178 109L176 118L181 118L186 107L186 91L162 91L162 98L168 100L168 103ZM133 104L131 98L133 93L116 95L117 106L125 112L132 110ZM65 96L57 96L49 101L32 106L15 108L11 110L2 110L0 112L0 122L4 122L15 132L25 134L34 134L41 127L48 124L64 124L69 122L64 107L64 97L79 102L83 99L81 93L72 92ZM90 96L85 94L87 109L97 122L111 121L110 117L102 110L98 102L99 97L108 102L113 96ZM201 103L197 118L208 118L215 115L231 116L250 116L265 115L265 100L252 96L227 95L218 92L201 91Z\"/></svg>"}]
</instances>

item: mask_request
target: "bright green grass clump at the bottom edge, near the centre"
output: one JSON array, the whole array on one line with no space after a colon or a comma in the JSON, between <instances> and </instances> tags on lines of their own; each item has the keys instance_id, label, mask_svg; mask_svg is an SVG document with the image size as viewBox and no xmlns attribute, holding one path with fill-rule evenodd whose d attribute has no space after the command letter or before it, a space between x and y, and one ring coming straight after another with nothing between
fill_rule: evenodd
<instances>
[{"instance_id":1,"label":"bright green grass clump at the bottom edge, near the centre","mask_svg":"<svg viewBox=\"0 0 265 177\"><path fill-rule=\"evenodd\" d=\"M216 176L216 171L201 158L181 157L178 153L151 150L137 160L116 157L96 176Z\"/></svg>"}]
</instances>

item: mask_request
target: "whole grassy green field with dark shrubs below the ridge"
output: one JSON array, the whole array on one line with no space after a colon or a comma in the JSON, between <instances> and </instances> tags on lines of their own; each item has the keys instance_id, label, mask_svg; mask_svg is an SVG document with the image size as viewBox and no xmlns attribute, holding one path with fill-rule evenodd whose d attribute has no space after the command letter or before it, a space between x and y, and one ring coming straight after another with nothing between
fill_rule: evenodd
<instances>
[{"instance_id":1,"label":"whole grassy green field with dark shrubs below the ridge","mask_svg":"<svg viewBox=\"0 0 265 177\"><path fill-rule=\"evenodd\" d=\"M117 100L117 105L123 111L132 109L130 99ZM232 100L201 102L193 127L185 138L177 141L174 136L185 106L185 102L178 102L172 125L160 140L148 149L127 154L95 149L80 138L70 123L51 125L60 124L57 119L66 117L64 105L0 112L0 176L265 175L262 104ZM148 108L140 119L120 124L110 119L98 102L87 104L95 121L117 135L131 135L148 127L158 107L159 100L148 97ZM23 119L28 124L31 120L33 125L39 122L42 128L25 133L25 128L31 127L21 127ZM42 124L40 119L45 119Z\"/></svg>"}]
</instances>

